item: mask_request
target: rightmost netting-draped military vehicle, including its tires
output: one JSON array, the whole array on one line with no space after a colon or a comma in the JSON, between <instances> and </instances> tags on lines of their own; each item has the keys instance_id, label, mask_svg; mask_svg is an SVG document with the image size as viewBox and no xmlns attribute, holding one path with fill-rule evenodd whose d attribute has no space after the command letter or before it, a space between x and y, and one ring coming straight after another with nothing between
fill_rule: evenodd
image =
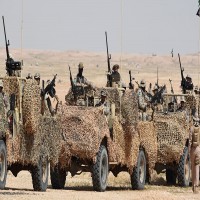
<instances>
[{"instance_id":1,"label":"rightmost netting-draped military vehicle, including its tires","mask_svg":"<svg viewBox=\"0 0 200 200\"><path fill-rule=\"evenodd\" d=\"M158 139L158 157L155 166L157 173L165 172L168 184L189 186L190 156L189 133L193 125L191 110L195 106L195 99L187 94L165 94L164 112L154 113L154 124ZM177 111L176 104L173 112L168 111L169 98L185 96L186 109ZM187 112L186 112L187 111Z\"/></svg>"}]
</instances>

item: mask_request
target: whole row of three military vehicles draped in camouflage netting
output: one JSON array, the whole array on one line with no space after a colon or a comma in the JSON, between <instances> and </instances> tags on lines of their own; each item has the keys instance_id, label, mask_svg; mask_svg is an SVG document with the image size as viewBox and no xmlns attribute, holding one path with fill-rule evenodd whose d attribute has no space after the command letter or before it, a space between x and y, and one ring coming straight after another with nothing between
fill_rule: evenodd
<instances>
[{"instance_id":1,"label":"whole row of three military vehicles draped in camouflage netting","mask_svg":"<svg viewBox=\"0 0 200 200\"><path fill-rule=\"evenodd\" d=\"M34 80L19 77L21 63L10 58L6 34L5 41L8 76L1 81L9 106L4 108L1 98L1 189L6 184L7 170L15 176L28 170L34 190L45 191L49 163L55 189L64 188L68 172L72 176L90 172L96 191L106 190L109 172L117 176L121 171L130 174L132 189L143 189L151 181L153 170L165 172L168 183L175 184L178 178L180 186L189 185L191 119L184 112L168 112L166 103L165 109L154 112L150 121L140 121L136 91L111 84L108 75L109 87L91 91L81 86L81 95L72 85L65 104L59 104L52 116L43 106L45 93L55 96L56 76L42 91ZM107 56L109 63L108 49ZM96 106L102 91L107 104ZM167 99L170 95L164 94Z\"/></svg>"}]
</instances>

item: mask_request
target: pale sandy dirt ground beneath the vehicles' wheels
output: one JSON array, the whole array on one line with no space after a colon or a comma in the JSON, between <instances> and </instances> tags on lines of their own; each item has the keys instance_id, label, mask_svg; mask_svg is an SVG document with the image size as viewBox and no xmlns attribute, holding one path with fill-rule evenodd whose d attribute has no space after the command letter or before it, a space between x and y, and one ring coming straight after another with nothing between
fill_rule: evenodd
<instances>
[{"instance_id":1,"label":"pale sandy dirt ground beneath the vehicles' wheels","mask_svg":"<svg viewBox=\"0 0 200 200\"><path fill-rule=\"evenodd\" d=\"M146 186L145 190L133 191L127 173L121 173L118 178L109 177L109 187L106 192L94 192L89 174L69 177L64 190L51 189L50 181L46 192L34 192L32 189L31 175L29 172L20 172L15 178L10 172L7 178L6 189L0 191L0 200L188 200L200 199L200 194L193 194L190 188L168 187L165 181L159 180L160 186Z\"/></svg>"}]
</instances>

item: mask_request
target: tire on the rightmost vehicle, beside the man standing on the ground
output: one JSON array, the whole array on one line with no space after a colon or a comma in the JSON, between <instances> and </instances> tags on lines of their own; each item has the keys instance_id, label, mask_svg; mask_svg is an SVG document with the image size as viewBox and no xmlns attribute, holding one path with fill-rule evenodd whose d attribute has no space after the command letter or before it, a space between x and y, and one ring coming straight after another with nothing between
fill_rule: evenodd
<instances>
[{"instance_id":1,"label":"tire on the rightmost vehicle, beside the man standing on the ground","mask_svg":"<svg viewBox=\"0 0 200 200\"><path fill-rule=\"evenodd\" d=\"M182 187L188 187L190 183L190 156L188 152L188 147L183 150L183 155L180 158L177 175L178 184Z\"/></svg>"}]
</instances>

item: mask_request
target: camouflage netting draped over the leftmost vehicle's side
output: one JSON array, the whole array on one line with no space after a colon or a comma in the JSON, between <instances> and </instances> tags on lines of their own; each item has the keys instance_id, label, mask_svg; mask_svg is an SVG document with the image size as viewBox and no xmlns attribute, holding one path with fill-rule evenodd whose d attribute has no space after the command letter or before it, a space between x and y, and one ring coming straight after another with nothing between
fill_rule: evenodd
<instances>
[{"instance_id":1,"label":"camouflage netting draped over the leftmost vehicle's side","mask_svg":"<svg viewBox=\"0 0 200 200\"><path fill-rule=\"evenodd\" d=\"M19 110L20 90L22 91L19 80L16 77L6 77L3 84L7 96L13 93L16 95L16 107ZM39 158L45 159L47 156L52 164L57 163L62 137L60 116L49 117L50 115L40 114L40 89L32 80L24 81L21 97L23 121L17 122L15 119L17 123L14 134L10 130L6 131L8 165L36 165ZM18 110L15 110L15 115Z\"/></svg>"}]
</instances>

